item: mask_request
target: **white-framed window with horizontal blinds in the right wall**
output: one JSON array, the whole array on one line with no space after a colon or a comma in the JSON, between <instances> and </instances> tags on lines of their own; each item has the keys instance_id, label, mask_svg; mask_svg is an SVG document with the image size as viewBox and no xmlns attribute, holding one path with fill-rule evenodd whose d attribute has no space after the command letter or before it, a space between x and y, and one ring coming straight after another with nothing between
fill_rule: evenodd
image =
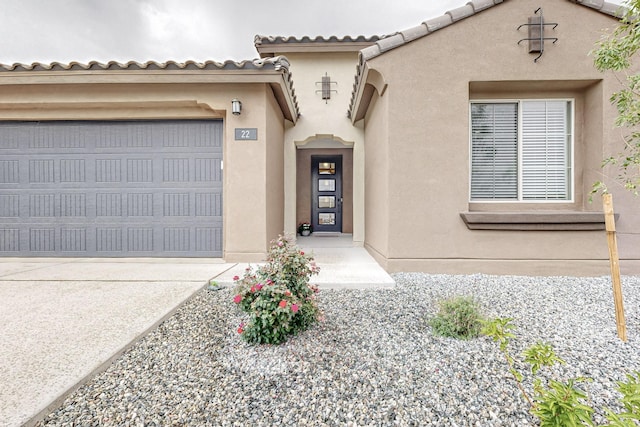
<instances>
[{"instance_id":1,"label":"white-framed window with horizontal blinds in the right wall","mask_svg":"<svg viewBox=\"0 0 640 427\"><path fill-rule=\"evenodd\" d=\"M472 201L572 199L573 102L471 104Z\"/></svg>"}]
</instances>

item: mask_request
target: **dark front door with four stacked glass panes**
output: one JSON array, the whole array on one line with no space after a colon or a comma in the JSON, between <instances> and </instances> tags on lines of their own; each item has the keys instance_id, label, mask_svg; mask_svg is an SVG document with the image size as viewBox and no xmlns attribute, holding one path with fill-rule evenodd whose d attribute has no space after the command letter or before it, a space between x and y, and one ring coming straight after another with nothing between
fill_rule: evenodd
<instances>
[{"instance_id":1,"label":"dark front door with four stacked glass panes","mask_svg":"<svg viewBox=\"0 0 640 427\"><path fill-rule=\"evenodd\" d=\"M311 157L313 231L342 232L342 156Z\"/></svg>"}]
</instances>

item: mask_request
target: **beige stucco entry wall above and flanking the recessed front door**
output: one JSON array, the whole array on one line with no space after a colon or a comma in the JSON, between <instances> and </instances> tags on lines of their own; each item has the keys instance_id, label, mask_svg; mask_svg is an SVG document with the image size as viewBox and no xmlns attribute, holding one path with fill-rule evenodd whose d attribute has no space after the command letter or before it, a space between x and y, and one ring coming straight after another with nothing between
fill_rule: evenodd
<instances>
[{"instance_id":1,"label":"beige stucco entry wall above and flanking the recessed front door","mask_svg":"<svg viewBox=\"0 0 640 427\"><path fill-rule=\"evenodd\" d=\"M363 131L353 126L347 117L351 90L357 63L357 52L286 53L295 79L296 96L300 103L301 117L295 127L285 131L285 229L295 233L298 226L298 202L296 184L298 173L296 149L309 148L353 150L353 173L358 179L351 184L353 192L353 224L343 228L353 233L354 244L364 240L364 156ZM320 92L325 73L331 85L331 99L323 100Z\"/></svg>"}]
</instances>

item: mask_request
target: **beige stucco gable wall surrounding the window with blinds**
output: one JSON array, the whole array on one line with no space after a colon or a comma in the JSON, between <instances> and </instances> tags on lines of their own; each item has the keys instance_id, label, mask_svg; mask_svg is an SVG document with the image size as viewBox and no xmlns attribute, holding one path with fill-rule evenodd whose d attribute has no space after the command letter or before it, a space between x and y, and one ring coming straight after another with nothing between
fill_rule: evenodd
<instances>
[{"instance_id":1,"label":"beige stucco gable wall surrounding the window with blinds","mask_svg":"<svg viewBox=\"0 0 640 427\"><path fill-rule=\"evenodd\" d=\"M534 63L537 54L527 53L526 43L517 43L527 37L526 30L516 29L537 7L547 22L558 23L546 36L559 40L547 42L544 55ZM601 30L615 23L568 1L541 0L534 7L526 0L510 0L369 61L388 89L382 98L374 95L376 102L365 118L366 244L389 270L607 273L604 232L469 230L459 214L601 210L588 203L587 193L604 150L618 144L620 132L613 129L615 111L608 104L615 80L598 73L587 54ZM512 97L575 99L572 203L469 202L469 101ZM388 137L380 129L385 116ZM374 178L370 159L385 156L388 178ZM373 195L378 199L371 200ZM620 197L616 205L621 257L640 259L638 228L632 226L637 225L640 201L634 205ZM386 218L380 213L385 210ZM385 225L386 248L379 243L382 238L374 240L369 233L370 227L384 230Z\"/></svg>"}]
</instances>

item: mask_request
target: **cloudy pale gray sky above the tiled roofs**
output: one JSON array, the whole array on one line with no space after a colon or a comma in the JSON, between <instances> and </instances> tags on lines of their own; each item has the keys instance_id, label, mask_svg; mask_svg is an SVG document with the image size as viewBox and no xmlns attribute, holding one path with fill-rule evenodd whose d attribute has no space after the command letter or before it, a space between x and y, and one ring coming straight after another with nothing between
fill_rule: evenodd
<instances>
[{"instance_id":1,"label":"cloudy pale gray sky above the tiled roofs","mask_svg":"<svg viewBox=\"0 0 640 427\"><path fill-rule=\"evenodd\" d=\"M239 61L256 34L393 34L467 1L0 0L0 63Z\"/></svg>"}]
</instances>

